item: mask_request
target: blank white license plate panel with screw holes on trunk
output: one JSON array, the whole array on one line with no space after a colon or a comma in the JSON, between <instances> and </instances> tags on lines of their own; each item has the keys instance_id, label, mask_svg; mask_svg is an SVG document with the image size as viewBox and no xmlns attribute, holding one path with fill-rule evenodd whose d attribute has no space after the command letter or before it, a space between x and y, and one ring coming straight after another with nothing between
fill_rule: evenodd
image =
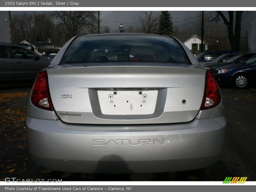
<instances>
[{"instance_id":1,"label":"blank white license plate panel with screw holes on trunk","mask_svg":"<svg viewBox=\"0 0 256 192\"><path fill-rule=\"evenodd\" d=\"M146 115L156 108L157 90L98 90L101 113L105 115Z\"/></svg>"}]
</instances>

